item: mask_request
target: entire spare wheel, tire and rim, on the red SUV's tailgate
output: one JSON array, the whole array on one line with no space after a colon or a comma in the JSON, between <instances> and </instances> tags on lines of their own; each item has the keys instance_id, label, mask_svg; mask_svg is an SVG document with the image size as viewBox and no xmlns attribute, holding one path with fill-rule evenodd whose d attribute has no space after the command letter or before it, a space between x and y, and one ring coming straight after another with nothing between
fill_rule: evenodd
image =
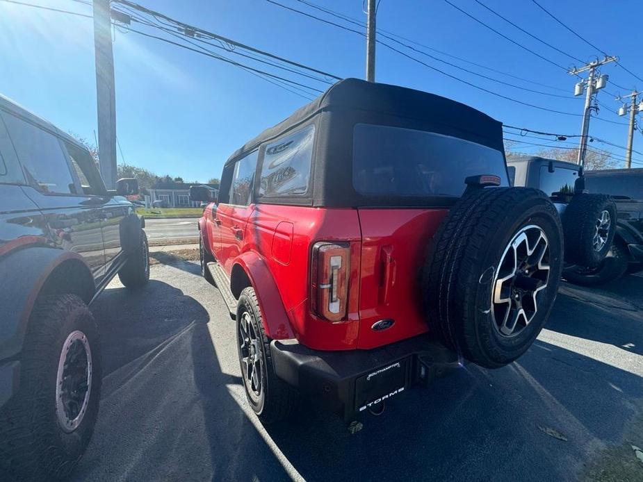
<instances>
[{"instance_id":1,"label":"entire spare wheel, tire and rim, on the red SUV's tailgate","mask_svg":"<svg viewBox=\"0 0 643 482\"><path fill-rule=\"evenodd\" d=\"M545 324L562 269L557 210L531 188L468 188L423 269L430 330L483 367L516 360Z\"/></svg>"}]
</instances>

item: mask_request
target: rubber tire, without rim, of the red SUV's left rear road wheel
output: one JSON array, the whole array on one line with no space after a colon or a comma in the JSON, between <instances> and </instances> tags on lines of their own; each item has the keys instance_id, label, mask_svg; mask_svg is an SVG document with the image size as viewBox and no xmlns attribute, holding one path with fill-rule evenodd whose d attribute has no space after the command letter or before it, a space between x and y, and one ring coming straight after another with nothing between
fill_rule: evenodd
<instances>
[{"instance_id":1,"label":"rubber tire, without rim, of the red SUV's left rear road wheel","mask_svg":"<svg viewBox=\"0 0 643 482\"><path fill-rule=\"evenodd\" d=\"M241 349L241 323L244 319L244 313L250 315L250 322L254 327L259 341L259 351L261 356L261 376L262 389L259 397L250 394L249 384L245 375L245 367L242 361ZM257 294L254 288L245 288L241 292L238 301L236 324L237 324L237 349L239 355L239 365L241 366L241 378L245 396L250 407L257 414L263 424L275 424L288 417L295 408L298 401L298 394L295 390L279 379L275 374L272 366L272 356L270 356L270 338L263 330L263 322Z\"/></svg>"}]
</instances>

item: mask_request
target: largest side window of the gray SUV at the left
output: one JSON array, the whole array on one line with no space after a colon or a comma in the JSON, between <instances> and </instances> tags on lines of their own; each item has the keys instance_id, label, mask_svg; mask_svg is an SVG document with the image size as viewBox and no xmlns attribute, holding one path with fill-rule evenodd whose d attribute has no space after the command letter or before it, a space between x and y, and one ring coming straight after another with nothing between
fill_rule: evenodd
<instances>
[{"instance_id":1,"label":"largest side window of the gray SUV at the left","mask_svg":"<svg viewBox=\"0 0 643 482\"><path fill-rule=\"evenodd\" d=\"M3 113L24 176L45 194L76 194L76 183L60 140L15 115Z\"/></svg>"}]
</instances>

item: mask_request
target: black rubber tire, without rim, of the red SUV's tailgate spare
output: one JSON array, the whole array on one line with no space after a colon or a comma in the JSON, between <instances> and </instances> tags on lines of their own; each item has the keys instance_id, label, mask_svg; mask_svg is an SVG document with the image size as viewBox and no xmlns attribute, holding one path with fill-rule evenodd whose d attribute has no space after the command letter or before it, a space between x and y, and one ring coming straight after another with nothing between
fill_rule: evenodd
<instances>
[{"instance_id":1,"label":"black rubber tire, without rim, of the red SUV's tailgate spare","mask_svg":"<svg viewBox=\"0 0 643 482\"><path fill-rule=\"evenodd\" d=\"M531 321L519 333L503 335L491 303L494 277L505 249L524 229L546 235L548 279L538 292ZM531 188L468 188L430 243L423 268L430 331L477 365L507 365L530 347L545 324L561 269L560 217L544 193Z\"/></svg>"}]
</instances>

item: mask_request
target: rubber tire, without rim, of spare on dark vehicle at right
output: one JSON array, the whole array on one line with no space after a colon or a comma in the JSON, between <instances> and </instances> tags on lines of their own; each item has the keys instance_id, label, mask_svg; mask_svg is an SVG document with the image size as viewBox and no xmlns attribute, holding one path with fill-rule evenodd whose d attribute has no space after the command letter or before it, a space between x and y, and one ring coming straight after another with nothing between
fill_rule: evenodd
<instances>
[{"instance_id":1,"label":"rubber tire, without rim, of spare on dark vehicle at right","mask_svg":"<svg viewBox=\"0 0 643 482\"><path fill-rule=\"evenodd\" d=\"M596 250L594 237L601 213L610 216L607 240ZM565 261L573 265L596 267L607 256L616 232L616 204L607 194L574 194L562 215Z\"/></svg>"}]
</instances>

